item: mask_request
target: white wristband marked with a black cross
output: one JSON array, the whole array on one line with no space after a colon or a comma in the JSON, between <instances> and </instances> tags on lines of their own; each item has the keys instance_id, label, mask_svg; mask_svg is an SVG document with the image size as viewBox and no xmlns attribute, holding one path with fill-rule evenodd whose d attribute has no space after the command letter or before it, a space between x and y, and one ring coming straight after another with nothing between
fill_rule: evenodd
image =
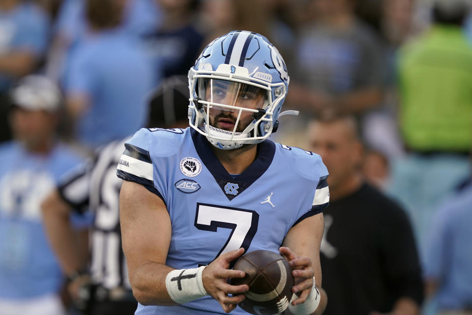
<instances>
[{"instance_id":1,"label":"white wristband marked with a black cross","mask_svg":"<svg viewBox=\"0 0 472 315\"><path fill-rule=\"evenodd\" d=\"M176 269L167 274L166 288L174 302L183 304L208 295L202 280L205 267Z\"/></svg>"}]
</instances>

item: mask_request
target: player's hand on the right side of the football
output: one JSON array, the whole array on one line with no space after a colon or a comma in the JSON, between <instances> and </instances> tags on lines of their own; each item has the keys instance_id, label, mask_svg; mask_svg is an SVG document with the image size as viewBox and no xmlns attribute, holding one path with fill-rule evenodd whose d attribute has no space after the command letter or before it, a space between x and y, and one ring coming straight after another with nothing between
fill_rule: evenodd
<instances>
[{"instance_id":1,"label":"player's hand on the right side of the football","mask_svg":"<svg viewBox=\"0 0 472 315\"><path fill-rule=\"evenodd\" d=\"M296 293L298 298L292 302L292 305L304 303L311 292L313 286L314 270L309 257L300 257L292 252L288 247L279 249L282 256L289 261L292 267L292 275L295 278L295 286L292 291Z\"/></svg>"}]
</instances>

